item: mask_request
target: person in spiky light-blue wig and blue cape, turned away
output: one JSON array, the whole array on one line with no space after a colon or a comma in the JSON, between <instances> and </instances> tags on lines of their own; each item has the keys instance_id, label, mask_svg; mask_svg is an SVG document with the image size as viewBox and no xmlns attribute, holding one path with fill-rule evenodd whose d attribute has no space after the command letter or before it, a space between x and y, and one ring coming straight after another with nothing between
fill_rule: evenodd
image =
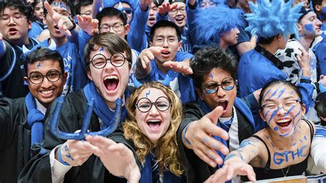
<instances>
[{"instance_id":1,"label":"person in spiky light-blue wig and blue cape, turned away","mask_svg":"<svg viewBox=\"0 0 326 183\"><path fill-rule=\"evenodd\" d=\"M296 21L301 16L301 7L301 4L297 4L292 8L292 1L285 3L283 0L265 0L259 5L250 3L252 13L247 14L249 27L246 30L257 34L259 42L254 50L243 54L239 61L237 73L240 97L248 96L272 80L286 80L286 74L278 68L281 61L274 54L277 50L285 48L290 34L298 31ZM297 86L303 95L303 103L309 106L312 103L314 85L311 84L306 54L303 52L297 56L303 76L307 77L301 79ZM253 111L253 115L257 129L266 126L258 111Z\"/></svg>"}]
</instances>

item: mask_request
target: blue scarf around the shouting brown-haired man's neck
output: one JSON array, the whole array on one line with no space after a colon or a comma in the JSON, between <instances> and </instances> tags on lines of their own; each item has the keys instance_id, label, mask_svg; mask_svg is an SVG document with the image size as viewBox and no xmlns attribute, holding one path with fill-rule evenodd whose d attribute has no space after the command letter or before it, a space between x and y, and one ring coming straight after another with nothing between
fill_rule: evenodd
<instances>
[{"instance_id":1,"label":"blue scarf around the shouting brown-haired man's neck","mask_svg":"<svg viewBox=\"0 0 326 183\"><path fill-rule=\"evenodd\" d=\"M84 88L83 88L85 98L87 102L91 100L91 98L94 98L94 108L93 111L95 114L100 118L104 125L102 129L107 129L108 127L111 126L111 120L114 118L114 112L107 107L107 103L103 100L102 96L98 93L98 90L96 89L96 86L94 85L93 81L88 83ZM126 89L124 92L124 98L129 97L129 91ZM127 116L127 109L126 107L122 107L122 112L121 112L121 118L120 122L124 120Z\"/></svg>"}]
</instances>

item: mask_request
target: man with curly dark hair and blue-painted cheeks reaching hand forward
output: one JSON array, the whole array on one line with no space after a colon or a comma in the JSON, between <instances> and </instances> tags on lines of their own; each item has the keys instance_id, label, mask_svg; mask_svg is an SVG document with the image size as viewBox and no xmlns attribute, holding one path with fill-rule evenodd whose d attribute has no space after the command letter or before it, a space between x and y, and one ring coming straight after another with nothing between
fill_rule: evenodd
<instances>
[{"instance_id":1,"label":"man with curly dark hair and blue-painted cheeks reaching hand forward","mask_svg":"<svg viewBox=\"0 0 326 183\"><path fill-rule=\"evenodd\" d=\"M259 94L237 98L237 61L220 48L199 50L191 68L199 98L184 105L177 140L187 182L204 182L222 166L229 151L254 133L250 108L258 109Z\"/></svg>"}]
</instances>

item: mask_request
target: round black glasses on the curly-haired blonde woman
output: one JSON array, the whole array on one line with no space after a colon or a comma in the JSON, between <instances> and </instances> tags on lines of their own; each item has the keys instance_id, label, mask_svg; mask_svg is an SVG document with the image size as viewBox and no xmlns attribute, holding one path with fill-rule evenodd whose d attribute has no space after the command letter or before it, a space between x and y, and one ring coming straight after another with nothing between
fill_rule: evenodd
<instances>
[{"instance_id":1,"label":"round black glasses on the curly-haired blonde woman","mask_svg":"<svg viewBox=\"0 0 326 183\"><path fill-rule=\"evenodd\" d=\"M149 110L151 110L153 105L159 111L166 111L167 109L169 109L170 106L172 106L172 103L165 96L160 96L159 98L157 98L155 103L152 103L149 98L140 98L137 104L135 104L135 107L137 107L138 110L140 110L141 112L148 112Z\"/></svg>"}]
</instances>

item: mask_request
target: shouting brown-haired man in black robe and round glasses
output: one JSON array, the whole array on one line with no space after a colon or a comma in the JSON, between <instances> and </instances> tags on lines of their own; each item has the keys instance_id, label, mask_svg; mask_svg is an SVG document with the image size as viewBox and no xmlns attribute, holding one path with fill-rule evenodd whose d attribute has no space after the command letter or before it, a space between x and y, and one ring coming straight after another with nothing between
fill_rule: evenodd
<instances>
[{"instance_id":1,"label":"shouting brown-haired man in black robe and round glasses","mask_svg":"<svg viewBox=\"0 0 326 183\"><path fill-rule=\"evenodd\" d=\"M100 131L111 127L114 119L116 100L126 100L131 88L127 88L131 69L131 50L126 41L112 33L102 33L92 37L85 48L87 76L90 83L78 92L67 94L58 127L61 131L74 133L81 128L85 118L87 102L94 98L89 131ZM105 171L100 159L92 155L91 149L83 147L82 140L62 140L50 131L56 103L45 120L45 153L25 166L20 175L21 182L112 182L118 181ZM127 111L122 106L120 122ZM86 142L87 143L87 142Z\"/></svg>"}]
</instances>

